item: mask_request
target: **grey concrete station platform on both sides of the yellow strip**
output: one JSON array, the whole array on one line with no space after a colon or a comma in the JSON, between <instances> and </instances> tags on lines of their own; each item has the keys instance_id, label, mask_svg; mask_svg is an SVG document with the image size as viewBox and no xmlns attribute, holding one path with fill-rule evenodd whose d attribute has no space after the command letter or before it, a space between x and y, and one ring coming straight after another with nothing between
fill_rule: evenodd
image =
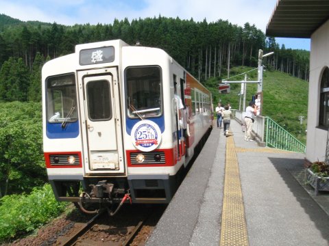
<instances>
[{"instance_id":1,"label":"grey concrete station platform on both sides of the yellow strip","mask_svg":"<svg viewBox=\"0 0 329 246\"><path fill-rule=\"evenodd\" d=\"M304 184L304 154L244 141L234 120L231 131L248 245L329 245L329 194L315 196ZM213 129L146 245L225 245L221 222L227 140L222 129Z\"/></svg>"}]
</instances>

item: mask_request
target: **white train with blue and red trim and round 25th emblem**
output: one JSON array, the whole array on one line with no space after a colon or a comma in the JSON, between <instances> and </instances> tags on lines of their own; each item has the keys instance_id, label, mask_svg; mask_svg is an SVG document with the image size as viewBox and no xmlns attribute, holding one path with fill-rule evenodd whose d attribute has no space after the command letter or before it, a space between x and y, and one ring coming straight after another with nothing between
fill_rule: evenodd
<instances>
[{"instance_id":1,"label":"white train with blue and red trim and round 25th emblem","mask_svg":"<svg viewBox=\"0 0 329 246\"><path fill-rule=\"evenodd\" d=\"M212 128L206 87L161 49L122 40L78 44L48 61L42 106L53 192L85 213L168 203Z\"/></svg>"}]
</instances>

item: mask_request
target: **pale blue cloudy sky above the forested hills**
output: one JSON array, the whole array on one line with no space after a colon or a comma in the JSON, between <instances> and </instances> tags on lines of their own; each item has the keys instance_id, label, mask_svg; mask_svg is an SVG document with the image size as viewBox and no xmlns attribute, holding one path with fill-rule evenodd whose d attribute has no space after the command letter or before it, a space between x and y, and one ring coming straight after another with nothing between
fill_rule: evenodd
<instances>
[{"instance_id":1,"label":"pale blue cloudy sky above the forested hills","mask_svg":"<svg viewBox=\"0 0 329 246\"><path fill-rule=\"evenodd\" d=\"M19 20L62 25L112 24L147 17L179 17L196 22L228 20L255 25L265 33L277 0L0 0L0 14ZM310 39L276 38L286 49L310 50Z\"/></svg>"}]
</instances>

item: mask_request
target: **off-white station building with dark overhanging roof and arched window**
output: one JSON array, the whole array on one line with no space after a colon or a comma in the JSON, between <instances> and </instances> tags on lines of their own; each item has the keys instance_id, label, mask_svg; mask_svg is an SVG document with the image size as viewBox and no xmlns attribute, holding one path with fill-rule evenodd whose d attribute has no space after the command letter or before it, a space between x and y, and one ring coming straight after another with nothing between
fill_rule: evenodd
<instances>
[{"instance_id":1,"label":"off-white station building with dark overhanging roof and arched window","mask_svg":"<svg viewBox=\"0 0 329 246\"><path fill-rule=\"evenodd\" d=\"M310 38L306 159L324 161L329 151L329 0L278 0L266 35Z\"/></svg>"}]
</instances>

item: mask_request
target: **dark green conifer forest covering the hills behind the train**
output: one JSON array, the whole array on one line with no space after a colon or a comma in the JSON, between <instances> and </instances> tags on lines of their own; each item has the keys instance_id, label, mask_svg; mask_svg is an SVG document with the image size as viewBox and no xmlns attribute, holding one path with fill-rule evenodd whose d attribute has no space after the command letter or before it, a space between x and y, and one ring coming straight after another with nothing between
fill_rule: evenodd
<instances>
[{"instance_id":1,"label":"dark green conifer forest covering the hills behind the train","mask_svg":"<svg viewBox=\"0 0 329 246\"><path fill-rule=\"evenodd\" d=\"M309 52L279 47L255 25L228 20L207 23L180 18L114 20L112 24L65 26L23 22L0 14L0 101L40 101L40 69L48 59L73 53L75 44L121 39L164 49L199 81L230 77L234 66L258 66L258 50L274 51L267 69L308 81Z\"/></svg>"}]
</instances>

